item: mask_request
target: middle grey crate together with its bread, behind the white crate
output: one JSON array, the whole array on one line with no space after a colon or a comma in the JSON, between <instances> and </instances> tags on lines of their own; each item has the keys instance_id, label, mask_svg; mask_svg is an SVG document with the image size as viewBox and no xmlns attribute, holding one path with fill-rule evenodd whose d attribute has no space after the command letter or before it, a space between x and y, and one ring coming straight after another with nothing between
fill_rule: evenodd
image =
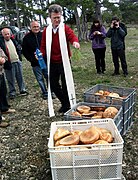
<instances>
[{"instance_id":1,"label":"middle grey crate together with its bread, behind the white crate","mask_svg":"<svg viewBox=\"0 0 138 180\"><path fill-rule=\"evenodd\" d=\"M64 114L66 121L112 118L119 130L123 129L123 112L120 105L80 102Z\"/></svg>"}]
</instances>

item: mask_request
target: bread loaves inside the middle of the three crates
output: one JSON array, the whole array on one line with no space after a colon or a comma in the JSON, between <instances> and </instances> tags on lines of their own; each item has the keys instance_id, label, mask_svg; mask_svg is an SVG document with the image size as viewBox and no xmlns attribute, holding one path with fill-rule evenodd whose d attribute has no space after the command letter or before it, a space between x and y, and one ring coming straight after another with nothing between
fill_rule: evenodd
<instances>
[{"instance_id":1,"label":"bread loaves inside the middle of the three crates","mask_svg":"<svg viewBox=\"0 0 138 180\"><path fill-rule=\"evenodd\" d=\"M78 116L78 117L89 117L94 119L101 119L101 118L114 118L118 113L118 109L110 106L87 106L87 105L80 105L76 108L75 111L71 112L71 116Z\"/></svg>"}]
</instances>

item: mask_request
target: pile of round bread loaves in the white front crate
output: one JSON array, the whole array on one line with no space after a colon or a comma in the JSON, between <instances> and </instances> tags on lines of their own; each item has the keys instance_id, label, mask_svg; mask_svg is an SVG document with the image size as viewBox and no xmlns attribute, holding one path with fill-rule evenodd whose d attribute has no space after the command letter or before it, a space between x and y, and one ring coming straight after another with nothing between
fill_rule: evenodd
<instances>
[{"instance_id":1,"label":"pile of round bread loaves in the white front crate","mask_svg":"<svg viewBox=\"0 0 138 180\"><path fill-rule=\"evenodd\" d=\"M112 133L105 128L91 126L86 130L69 131L64 128L58 128L53 136L54 146L74 146L88 144L106 144L112 143L114 138Z\"/></svg>"}]
</instances>

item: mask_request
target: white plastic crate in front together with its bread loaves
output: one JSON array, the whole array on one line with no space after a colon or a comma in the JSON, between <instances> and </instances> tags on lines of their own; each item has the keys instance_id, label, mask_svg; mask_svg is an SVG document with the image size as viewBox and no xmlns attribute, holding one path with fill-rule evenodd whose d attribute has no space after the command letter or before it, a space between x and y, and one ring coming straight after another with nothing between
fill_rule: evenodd
<instances>
[{"instance_id":1,"label":"white plastic crate in front together with its bread loaves","mask_svg":"<svg viewBox=\"0 0 138 180\"><path fill-rule=\"evenodd\" d=\"M48 150L53 179L121 177L123 139L112 119L53 122Z\"/></svg>"}]
</instances>

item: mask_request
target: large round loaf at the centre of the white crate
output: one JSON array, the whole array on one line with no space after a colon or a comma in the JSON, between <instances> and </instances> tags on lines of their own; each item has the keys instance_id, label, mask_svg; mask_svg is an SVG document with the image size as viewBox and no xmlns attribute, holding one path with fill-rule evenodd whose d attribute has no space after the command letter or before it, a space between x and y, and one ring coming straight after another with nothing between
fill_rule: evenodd
<instances>
[{"instance_id":1,"label":"large round loaf at the centre of the white crate","mask_svg":"<svg viewBox=\"0 0 138 180\"><path fill-rule=\"evenodd\" d=\"M99 133L95 126L83 131L80 135L80 141L84 144L92 144L99 139Z\"/></svg>"}]
</instances>

